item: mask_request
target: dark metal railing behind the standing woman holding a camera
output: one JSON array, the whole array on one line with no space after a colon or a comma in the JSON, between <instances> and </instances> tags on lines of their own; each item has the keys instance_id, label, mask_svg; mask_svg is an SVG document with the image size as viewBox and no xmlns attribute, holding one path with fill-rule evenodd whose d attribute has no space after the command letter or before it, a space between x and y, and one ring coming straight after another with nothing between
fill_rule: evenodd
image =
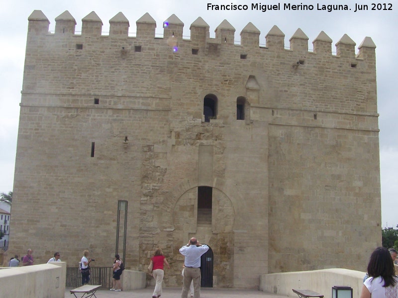
<instances>
[{"instance_id":1,"label":"dark metal railing behind the standing woman holding a camera","mask_svg":"<svg viewBox=\"0 0 398 298\"><path fill-rule=\"evenodd\" d=\"M102 289L112 288L113 267L91 267L89 285L101 285ZM82 285L79 267L66 268L66 287L78 288Z\"/></svg>"}]
</instances>

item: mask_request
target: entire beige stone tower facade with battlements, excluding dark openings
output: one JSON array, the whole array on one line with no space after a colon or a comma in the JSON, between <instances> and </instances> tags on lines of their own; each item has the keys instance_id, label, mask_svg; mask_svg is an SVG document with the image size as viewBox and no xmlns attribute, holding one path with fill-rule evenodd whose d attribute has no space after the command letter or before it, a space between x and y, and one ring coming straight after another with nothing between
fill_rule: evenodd
<instances>
[{"instance_id":1,"label":"entire beige stone tower facade with battlements, excluding dark openings","mask_svg":"<svg viewBox=\"0 0 398 298\"><path fill-rule=\"evenodd\" d=\"M168 286L182 283L178 249L192 236L213 251L214 287L258 287L261 274L292 268L296 254L295 270L362 269L381 242L370 38L356 57L344 35L334 56L324 32L308 52L299 29L286 50L276 26L265 48L251 23L234 45L227 21L208 38L198 18L186 40L175 15L164 38L149 14L136 37L122 13L109 36L94 12L81 35L69 12L61 16L55 34L41 11L29 17L12 253L30 247L45 262L57 250L77 265L88 248L96 265L110 266L125 200L118 253L128 269L145 270L162 247ZM206 95L216 98L209 123ZM198 224L199 186L212 187L209 226Z\"/></svg>"}]
</instances>

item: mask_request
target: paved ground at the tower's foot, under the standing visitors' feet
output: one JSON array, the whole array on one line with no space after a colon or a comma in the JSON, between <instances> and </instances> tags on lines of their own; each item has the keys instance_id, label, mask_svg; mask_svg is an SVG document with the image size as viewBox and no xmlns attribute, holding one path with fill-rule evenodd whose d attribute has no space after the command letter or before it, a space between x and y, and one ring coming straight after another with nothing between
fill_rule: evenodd
<instances>
[{"instance_id":1,"label":"paved ground at the tower's foot, under the standing visitors' feet","mask_svg":"<svg viewBox=\"0 0 398 298\"><path fill-rule=\"evenodd\" d=\"M152 298L154 288L146 288L134 291L113 292L109 290L99 290L96 293L97 298ZM65 298L75 298L70 294L72 288L66 288ZM79 296L80 298L81 296ZM180 288L163 288L161 298L180 298ZM202 288L200 298L286 298L286 296L274 295L255 290L232 290L232 289L209 289Z\"/></svg>"}]
</instances>

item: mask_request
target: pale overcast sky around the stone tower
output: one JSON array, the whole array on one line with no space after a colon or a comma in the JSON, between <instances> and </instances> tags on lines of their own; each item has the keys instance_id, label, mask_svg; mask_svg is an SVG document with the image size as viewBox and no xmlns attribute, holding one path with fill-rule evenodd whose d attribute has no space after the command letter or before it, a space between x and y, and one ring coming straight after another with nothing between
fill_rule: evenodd
<instances>
[{"instance_id":1,"label":"pale overcast sky around the stone tower","mask_svg":"<svg viewBox=\"0 0 398 298\"><path fill-rule=\"evenodd\" d=\"M237 0L0 0L0 192L12 190L16 140L18 133L19 102L22 88L23 64L26 46L28 16L33 10L42 10L50 21L50 31L55 28L55 18L68 10L76 19L76 33L81 31L82 18L95 11L101 18L104 35L109 31L109 19L121 11L130 22L129 33L134 36L136 20L148 12L157 23L157 34L163 33L162 24L173 13L185 24L184 35L189 38L189 27L199 16L210 26L210 37L215 28L227 19L235 27L235 40L240 32L252 22L260 31L260 44L265 44L265 35L277 25L286 35L285 46L298 28L308 36L308 48L312 41L324 31L332 40L335 53L336 42L347 34L356 42L356 48L366 36L376 44L378 112L380 127L380 167L382 192L382 226L398 224L398 138L397 138L397 70L398 70L398 0L388 0L392 5L372 10L375 0L329 0L329 1L237 1ZM247 10L211 10L214 5L246 4ZM280 10L252 9L252 3L278 4ZM313 5L313 10L284 10L284 3ZM350 10L318 10L323 4L347 5ZM355 12L355 3L367 5L367 10ZM381 2L383 3L383 2ZM363 8L366 8L363 6ZM358 51L358 50L356 50Z\"/></svg>"}]
</instances>

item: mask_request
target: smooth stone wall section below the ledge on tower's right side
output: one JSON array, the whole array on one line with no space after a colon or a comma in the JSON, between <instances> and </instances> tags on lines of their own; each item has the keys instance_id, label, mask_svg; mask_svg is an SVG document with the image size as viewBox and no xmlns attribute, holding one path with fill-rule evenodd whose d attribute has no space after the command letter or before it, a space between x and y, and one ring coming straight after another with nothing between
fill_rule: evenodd
<instances>
[{"instance_id":1,"label":"smooth stone wall section below the ledge on tower's right side","mask_svg":"<svg viewBox=\"0 0 398 298\"><path fill-rule=\"evenodd\" d=\"M346 256L379 243L365 236L380 231L377 133L280 125L269 132L269 272L315 270L316 259L365 270L366 261Z\"/></svg>"}]
</instances>

